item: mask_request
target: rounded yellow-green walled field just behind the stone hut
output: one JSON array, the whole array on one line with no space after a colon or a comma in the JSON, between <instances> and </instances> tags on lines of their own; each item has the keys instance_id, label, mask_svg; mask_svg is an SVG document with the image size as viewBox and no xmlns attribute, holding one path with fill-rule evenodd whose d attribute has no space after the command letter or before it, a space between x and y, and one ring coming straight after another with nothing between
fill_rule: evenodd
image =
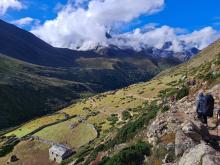
<instances>
[{"instance_id":1,"label":"rounded yellow-green walled field just behind the stone hut","mask_svg":"<svg viewBox=\"0 0 220 165\"><path fill-rule=\"evenodd\" d=\"M66 144L71 148L79 148L97 137L97 131L89 123L79 123L79 119L71 120L47 127L35 134L42 139Z\"/></svg>"}]
</instances>

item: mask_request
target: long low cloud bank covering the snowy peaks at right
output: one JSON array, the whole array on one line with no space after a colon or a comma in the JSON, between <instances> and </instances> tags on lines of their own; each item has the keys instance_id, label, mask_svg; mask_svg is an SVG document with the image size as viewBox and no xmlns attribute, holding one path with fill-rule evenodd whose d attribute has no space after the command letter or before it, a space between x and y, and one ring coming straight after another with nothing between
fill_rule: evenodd
<instances>
[{"instance_id":1,"label":"long low cloud bank covering the snowy peaks at right","mask_svg":"<svg viewBox=\"0 0 220 165\"><path fill-rule=\"evenodd\" d=\"M220 33L212 27L205 27L192 33L181 33L184 30L162 26L143 32L136 29L133 32L117 35L110 40L110 43L119 47L132 47L135 50L144 49L146 46L161 49L168 42L171 42L167 49L174 52L181 52L184 49L205 48L213 41L220 38Z\"/></svg>"}]
</instances>

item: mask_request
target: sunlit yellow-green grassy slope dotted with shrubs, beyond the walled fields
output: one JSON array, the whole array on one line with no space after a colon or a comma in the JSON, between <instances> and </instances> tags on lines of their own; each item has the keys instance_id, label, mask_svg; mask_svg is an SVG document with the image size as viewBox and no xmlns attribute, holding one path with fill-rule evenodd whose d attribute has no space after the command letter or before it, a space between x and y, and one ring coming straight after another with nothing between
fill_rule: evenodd
<instances>
[{"instance_id":1,"label":"sunlit yellow-green grassy slope dotted with shrubs, beyond the walled fields","mask_svg":"<svg viewBox=\"0 0 220 165\"><path fill-rule=\"evenodd\" d=\"M210 53L209 50L214 51ZM88 99L83 99L76 104L62 109L60 112L86 117L88 112L84 109L89 108L91 111L98 111L100 113L96 116L91 116L88 121L91 123L102 123L112 113L120 113L125 109L135 108L147 100L159 99L158 94L160 91L173 87L171 83L174 81L178 82L186 73L189 77L199 76L194 73L194 70L200 72L203 66L202 64L207 65L207 62L217 60L219 53L220 42L217 42L215 45L211 45L205 49L190 62L168 69L149 82L134 84L121 90L106 92ZM207 57L207 54L209 57ZM218 67L219 65L216 65L214 70L218 70ZM213 72L211 69L209 71ZM199 77L197 78L199 79ZM216 79L217 82L218 79ZM34 120L32 122L35 123L36 121Z\"/></svg>"}]
</instances>

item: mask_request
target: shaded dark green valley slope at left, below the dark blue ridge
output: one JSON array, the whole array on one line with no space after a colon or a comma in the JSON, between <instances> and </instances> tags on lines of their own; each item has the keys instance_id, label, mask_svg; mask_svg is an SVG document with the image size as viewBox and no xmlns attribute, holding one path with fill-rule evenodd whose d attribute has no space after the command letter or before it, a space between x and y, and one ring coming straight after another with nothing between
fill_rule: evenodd
<instances>
[{"instance_id":1,"label":"shaded dark green valley slope at left, below the dark blue ridge","mask_svg":"<svg viewBox=\"0 0 220 165\"><path fill-rule=\"evenodd\" d=\"M53 72L57 75L44 76ZM0 56L0 129L53 112L80 98L80 92L90 92L87 85L60 79L59 74L61 69Z\"/></svg>"}]
</instances>

